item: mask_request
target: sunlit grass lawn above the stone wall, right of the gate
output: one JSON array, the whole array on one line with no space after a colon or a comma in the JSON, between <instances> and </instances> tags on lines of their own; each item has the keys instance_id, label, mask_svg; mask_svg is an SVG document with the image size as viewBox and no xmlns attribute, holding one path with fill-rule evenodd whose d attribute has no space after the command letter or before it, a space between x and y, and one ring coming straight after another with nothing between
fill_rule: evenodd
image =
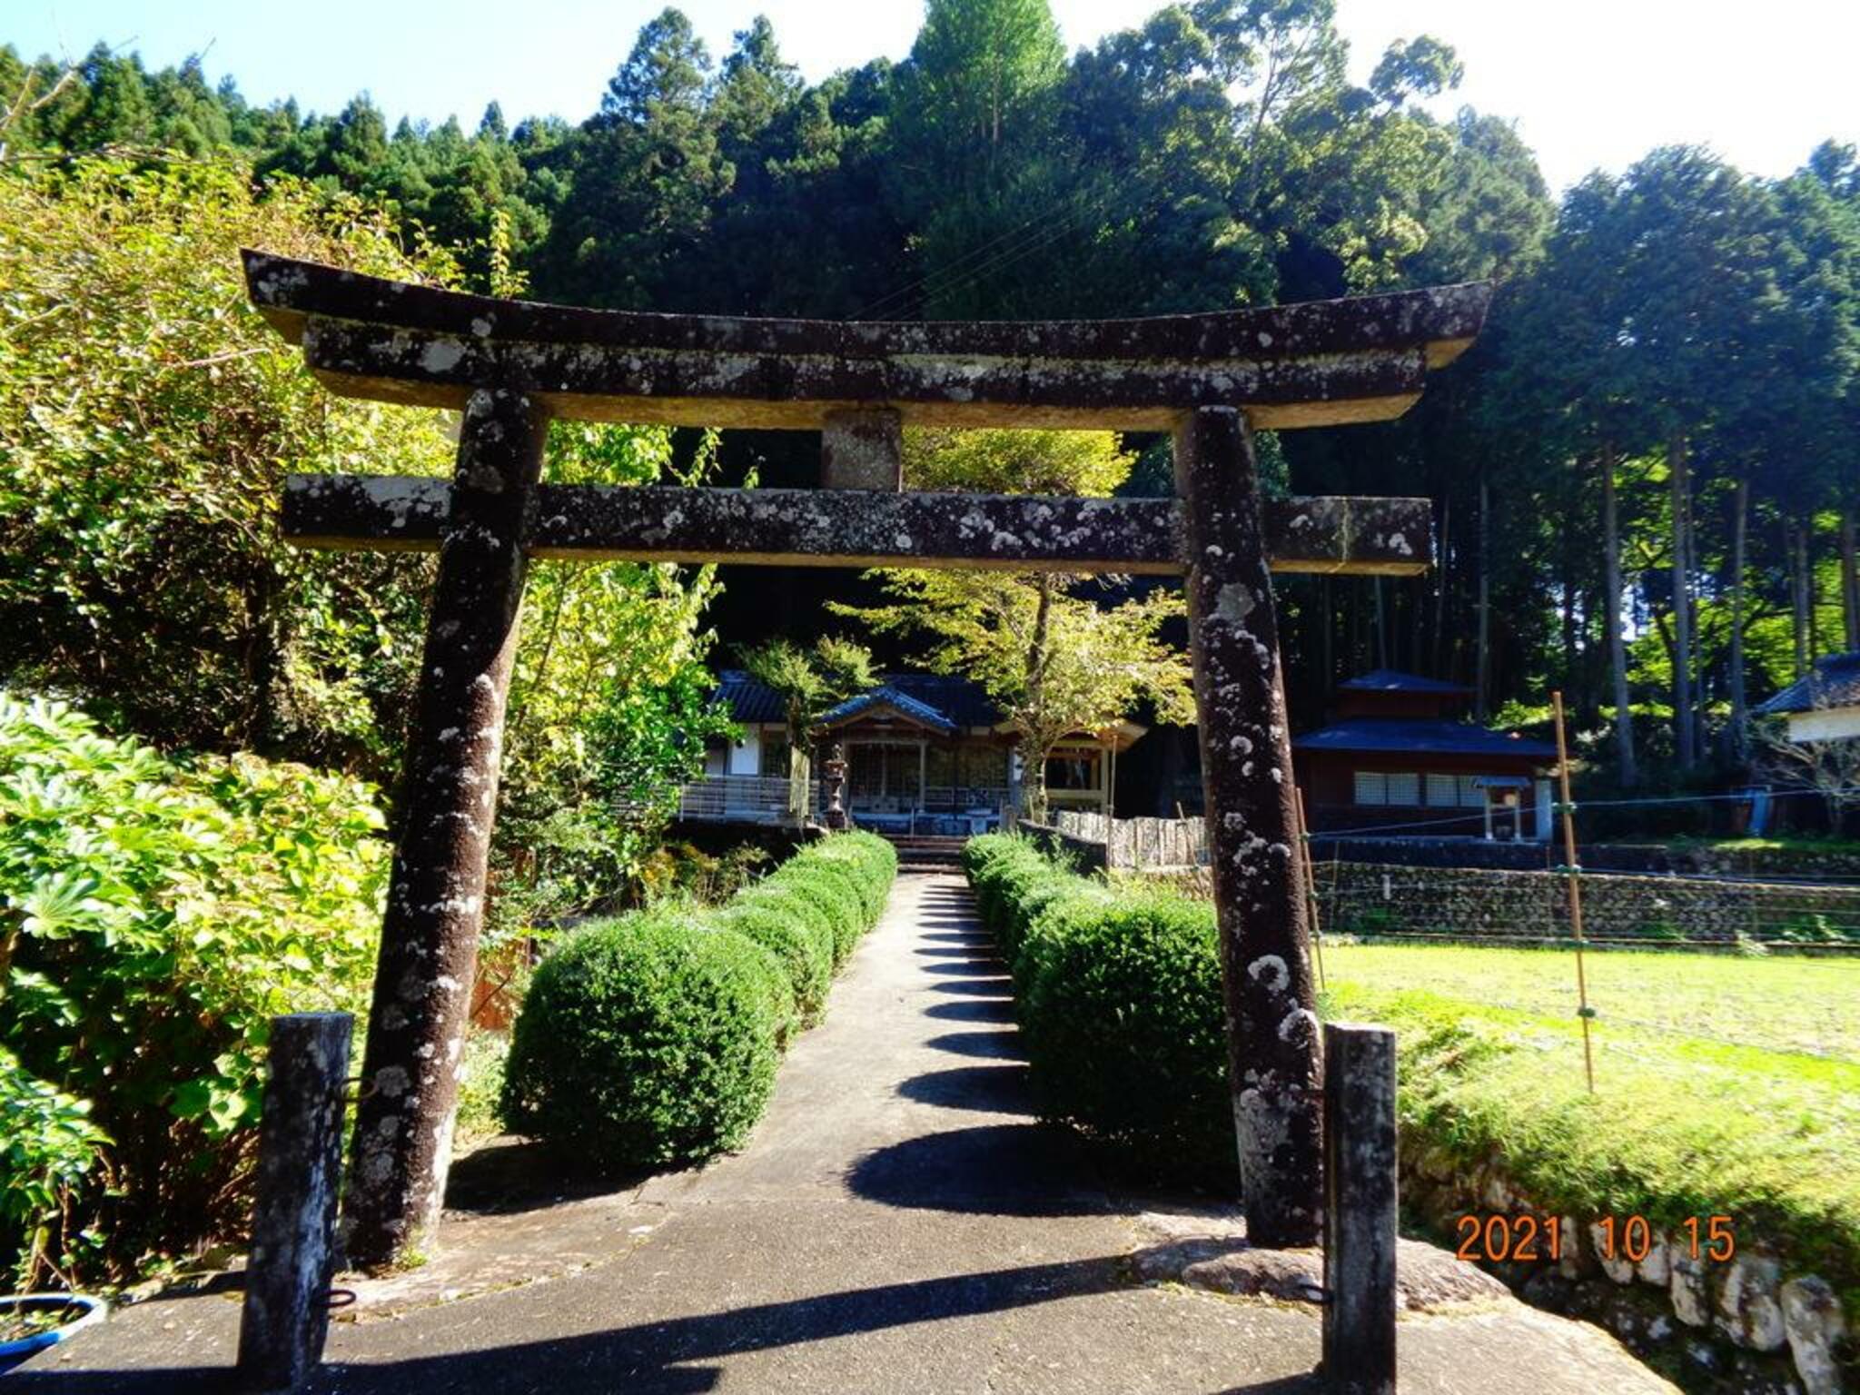
<instances>
[{"instance_id":1,"label":"sunlit grass lawn above the stone wall, right of the gate","mask_svg":"<svg viewBox=\"0 0 1860 1395\"><path fill-rule=\"evenodd\" d=\"M1332 945L1332 1017L1401 1032L1410 1146L1570 1215L1730 1215L1860 1298L1860 960Z\"/></svg>"}]
</instances>

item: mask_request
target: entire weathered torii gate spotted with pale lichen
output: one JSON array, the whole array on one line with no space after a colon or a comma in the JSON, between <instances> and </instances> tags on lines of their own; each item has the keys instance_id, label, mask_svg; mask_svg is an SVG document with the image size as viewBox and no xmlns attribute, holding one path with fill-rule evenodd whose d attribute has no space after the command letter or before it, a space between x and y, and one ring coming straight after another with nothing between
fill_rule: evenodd
<instances>
[{"instance_id":1,"label":"entire weathered torii gate spotted with pale lichen","mask_svg":"<svg viewBox=\"0 0 1860 1395\"><path fill-rule=\"evenodd\" d=\"M530 556L1181 575L1248 1233L1321 1229L1321 1045L1269 569L1414 575L1425 498L1265 500L1252 432L1397 417L1479 333L1443 286L1220 314L841 324L586 311L246 253L253 303L344 396L463 413L448 482L292 476L303 547L437 551L344 1198L348 1257L445 1192L504 699ZM822 489L541 484L551 417L822 432ZM902 493L915 426L1172 432L1174 500Z\"/></svg>"}]
</instances>

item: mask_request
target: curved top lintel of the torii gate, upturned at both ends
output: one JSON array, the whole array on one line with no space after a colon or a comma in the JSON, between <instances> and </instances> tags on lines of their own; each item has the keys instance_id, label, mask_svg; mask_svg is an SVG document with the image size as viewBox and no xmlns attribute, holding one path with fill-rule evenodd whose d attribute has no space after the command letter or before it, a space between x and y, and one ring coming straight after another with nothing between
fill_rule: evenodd
<instances>
[{"instance_id":1,"label":"curved top lintel of the torii gate, upturned at both ends","mask_svg":"<svg viewBox=\"0 0 1860 1395\"><path fill-rule=\"evenodd\" d=\"M480 387L562 417L818 430L895 407L917 426L1170 430L1192 407L1257 428L1399 417L1473 340L1482 283L1140 320L835 322L495 299L246 251L253 305L344 396L461 407Z\"/></svg>"}]
</instances>

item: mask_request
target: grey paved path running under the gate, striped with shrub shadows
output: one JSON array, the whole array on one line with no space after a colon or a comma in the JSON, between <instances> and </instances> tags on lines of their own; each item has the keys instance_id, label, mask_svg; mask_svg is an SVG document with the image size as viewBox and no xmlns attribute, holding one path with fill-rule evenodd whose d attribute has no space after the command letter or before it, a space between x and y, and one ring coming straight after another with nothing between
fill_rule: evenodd
<instances>
[{"instance_id":1,"label":"grey paved path running under the gate, striped with shrub shadows","mask_svg":"<svg viewBox=\"0 0 1860 1395\"><path fill-rule=\"evenodd\" d=\"M357 1285L312 1389L1322 1389L1313 1308L1144 1280L1233 1218L1112 1194L1036 1123L1010 1006L962 882L902 878L742 1155L448 1215L428 1270ZM484 1189L471 1174L456 1196ZM232 1293L140 1304L7 1391L210 1389L236 1332ZM1670 1389L1510 1300L1404 1319L1401 1341L1404 1391Z\"/></svg>"}]
</instances>

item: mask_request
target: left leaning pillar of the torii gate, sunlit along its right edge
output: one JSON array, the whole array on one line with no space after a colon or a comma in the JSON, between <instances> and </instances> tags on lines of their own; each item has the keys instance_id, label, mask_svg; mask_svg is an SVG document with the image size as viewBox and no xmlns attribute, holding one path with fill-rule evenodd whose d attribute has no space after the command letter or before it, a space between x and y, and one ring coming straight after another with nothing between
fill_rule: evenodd
<instances>
[{"instance_id":1,"label":"left leaning pillar of the torii gate, sunlit along its right edge","mask_svg":"<svg viewBox=\"0 0 1860 1395\"><path fill-rule=\"evenodd\" d=\"M545 433L543 409L506 391L472 392L459 428L344 1196L359 1267L418 1252L445 1198Z\"/></svg>"}]
</instances>

